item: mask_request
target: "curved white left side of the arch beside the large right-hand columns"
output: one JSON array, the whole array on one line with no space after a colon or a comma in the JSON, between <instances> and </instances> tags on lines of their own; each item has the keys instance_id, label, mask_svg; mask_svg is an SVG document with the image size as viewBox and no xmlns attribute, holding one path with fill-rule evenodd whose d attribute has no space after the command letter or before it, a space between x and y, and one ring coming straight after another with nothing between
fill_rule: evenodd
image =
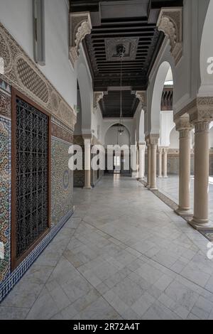
<instances>
[{"instance_id":1,"label":"curved white left side of the arch beside the large right-hand columns","mask_svg":"<svg viewBox=\"0 0 213 334\"><path fill-rule=\"evenodd\" d=\"M168 70L170 70L170 68L170 63L168 63L168 61L164 61L160 64L157 75L155 77L155 84L151 99L151 133L153 134L160 134L161 98L165 84L165 78L167 77Z\"/></svg>"}]
</instances>

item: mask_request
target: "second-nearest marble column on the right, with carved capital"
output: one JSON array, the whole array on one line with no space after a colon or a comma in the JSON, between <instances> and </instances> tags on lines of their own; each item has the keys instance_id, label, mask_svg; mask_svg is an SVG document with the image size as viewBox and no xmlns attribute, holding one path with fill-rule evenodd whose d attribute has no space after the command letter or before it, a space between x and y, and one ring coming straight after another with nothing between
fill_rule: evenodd
<instances>
[{"instance_id":1,"label":"second-nearest marble column on the right, with carved capital","mask_svg":"<svg viewBox=\"0 0 213 334\"><path fill-rule=\"evenodd\" d=\"M179 131L179 205L176 212L179 215L192 215L190 212L190 160L191 160L191 130L188 116L180 117L176 122Z\"/></svg>"}]
</instances>

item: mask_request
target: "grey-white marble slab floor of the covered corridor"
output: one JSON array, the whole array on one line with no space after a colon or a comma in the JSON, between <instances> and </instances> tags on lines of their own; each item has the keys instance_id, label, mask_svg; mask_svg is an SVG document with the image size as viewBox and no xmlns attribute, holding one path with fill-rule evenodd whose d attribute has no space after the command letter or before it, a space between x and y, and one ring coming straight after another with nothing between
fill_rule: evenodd
<instances>
[{"instance_id":1,"label":"grey-white marble slab floor of the covered corridor","mask_svg":"<svg viewBox=\"0 0 213 334\"><path fill-rule=\"evenodd\" d=\"M104 176L0 305L1 319L212 319L207 239L151 191Z\"/></svg>"}]
</instances>

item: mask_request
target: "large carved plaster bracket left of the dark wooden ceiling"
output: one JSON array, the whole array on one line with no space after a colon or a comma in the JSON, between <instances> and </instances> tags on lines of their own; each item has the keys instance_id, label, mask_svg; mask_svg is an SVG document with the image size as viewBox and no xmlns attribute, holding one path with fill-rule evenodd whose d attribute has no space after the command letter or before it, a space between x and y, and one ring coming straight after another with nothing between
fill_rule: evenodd
<instances>
[{"instance_id":1,"label":"large carved plaster bracket left of the dark wooden ceiling","mask_svg":"<svg viewBox=\"0 0 213 334\"><path fill-rule=\"evenodd\" d=\"M91 33L91 29L89 11L70 13L70 61L73 66L78 58L80 43Z\"/></svg>"}]
</instances>

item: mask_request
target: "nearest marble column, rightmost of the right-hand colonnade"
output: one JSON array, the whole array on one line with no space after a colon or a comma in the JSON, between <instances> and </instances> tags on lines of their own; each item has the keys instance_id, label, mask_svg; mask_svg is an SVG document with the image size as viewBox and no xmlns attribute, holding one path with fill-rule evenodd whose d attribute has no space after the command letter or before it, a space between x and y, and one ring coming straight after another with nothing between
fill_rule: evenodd
<instances>
[{"instance_id":1,"label":"nearest marble column, rightmost of the right-hand colonnade","mask_svg":"<svg viewBox=\"0 0 213 334\"><path fill-rule=\"evenodd\" d=\"M194 216L197 230L213 229L209 222L209 121L195 122Z\"/></svg>"}]
</instances>

